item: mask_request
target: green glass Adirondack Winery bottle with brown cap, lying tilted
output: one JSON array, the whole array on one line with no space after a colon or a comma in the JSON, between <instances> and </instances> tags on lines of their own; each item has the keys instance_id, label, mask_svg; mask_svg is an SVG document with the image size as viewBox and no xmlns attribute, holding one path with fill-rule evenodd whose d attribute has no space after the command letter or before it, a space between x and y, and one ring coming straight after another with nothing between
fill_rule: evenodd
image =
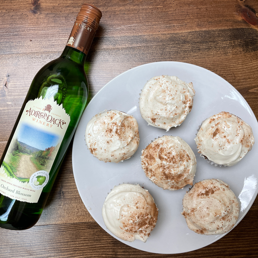
<instances>
[{"instance_id":1,"label":"green glass Adirondack Winery bottle with brown cap, lying tilted","mask_svg":"<svg viewBox=\"0 0 258 258\"><path fill-rule=\"evenodd\" d=\"M0 160L0 227L36 224L86 106L84 62L101 11L83 4L62 55L34 77Z\"/></svg>"}]
</instances>

